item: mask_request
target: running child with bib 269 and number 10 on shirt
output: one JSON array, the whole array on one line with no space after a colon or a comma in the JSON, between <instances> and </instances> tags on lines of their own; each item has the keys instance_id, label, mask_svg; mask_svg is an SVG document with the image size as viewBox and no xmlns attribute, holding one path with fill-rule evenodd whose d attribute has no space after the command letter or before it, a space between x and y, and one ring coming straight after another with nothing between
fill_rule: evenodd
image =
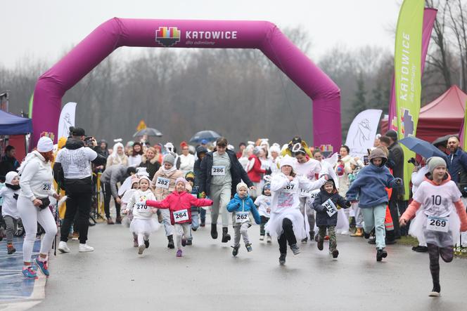
<instances>
[{"instance_id":1,"label":"running child with bib 269 and number 10 on shirt","mask_svg":"<svg viewBox=\"0 0 467 311\"><path fill-rule=\"evenodd\" d=\"M467 214L461 201L461 192L447 173L444 159L428 159L428 170L430 173L426 174L426 180L418 187L414 201L402 214L399 224L407 225L416 211L422 209L411 223L411 232L426 241L433 279L433 290L428 296L438 297L441 292L440 256L446 263L452 261L454 241L459 234L459 220L460 231L467 231Z\"/></svg>"}]
</instances>

